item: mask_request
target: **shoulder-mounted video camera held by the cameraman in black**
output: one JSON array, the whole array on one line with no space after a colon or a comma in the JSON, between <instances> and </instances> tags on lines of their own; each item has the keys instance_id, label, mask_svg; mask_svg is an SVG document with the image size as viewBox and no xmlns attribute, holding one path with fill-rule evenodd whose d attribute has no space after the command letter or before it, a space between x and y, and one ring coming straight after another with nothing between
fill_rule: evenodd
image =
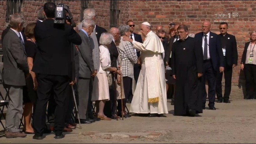
<instances>
[{"instance_id":1,"label":"shoulder-mounted video camera held by the cameraman in black","mask_svg":"<svg viewBox=\"0 0 256 144\"><path fill-rule=\"evenodd\" d=\"M73 27L76 27L75 21L73 20L73 16L69 10L69 7L65 4L56 4L54 23L65 24L66 20L70 22Z\"/></svg>"}]
</instances>

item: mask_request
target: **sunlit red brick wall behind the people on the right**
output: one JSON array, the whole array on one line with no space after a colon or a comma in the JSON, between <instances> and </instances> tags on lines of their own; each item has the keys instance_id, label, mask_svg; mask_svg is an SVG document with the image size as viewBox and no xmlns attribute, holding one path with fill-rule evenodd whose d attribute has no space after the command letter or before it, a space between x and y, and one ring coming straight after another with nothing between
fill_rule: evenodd
<instances>
[{"instance_id":1,"label":"sunlit red brick wall behind the people on the right","mask_svg":"<svg viewBox=\"0 0 256 144\"><path fill-rule=\"evenodd\" d=\"M139 24L148 21L153 26L164 25L169 22L189 26L190 33L201 32L202 22L209 20L212 23L212 32L219 34L220 20L214 18L214 13L238 12L237 17L228 20L228 33L236 36L238 49L238 66L233 70L232 85L244 83L243 72L240 71L241 56L244 44L249 40L249 32L256 30L256 1L129 1L129 20L135 22L136 31ZM222 81L224 82L224 80Z\"/></svg>"}]
</instances>

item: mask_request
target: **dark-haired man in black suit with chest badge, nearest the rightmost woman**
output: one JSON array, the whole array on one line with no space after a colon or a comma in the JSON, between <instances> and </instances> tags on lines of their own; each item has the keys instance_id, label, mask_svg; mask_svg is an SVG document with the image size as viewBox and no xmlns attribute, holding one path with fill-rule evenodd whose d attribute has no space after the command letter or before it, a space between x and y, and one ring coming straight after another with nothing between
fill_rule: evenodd
<instances>
[{"instance_id":1,"label":"dark-haired man in black suit with chest badge, nearest the rightmost woman","mask_svg":"<svg viewBox=\"0 0 256 144\"><path fill-rule=\"evenodd\" d=\"M236 37L227 33L228 25L226 22L220 23L220 39L221 46L224 55L224 79L225 79L225 91L222 97L222 75L223 73L217 73L217 85L216 85L216 95L218 98L217 103L230 103L229 95L231 92L231 79L233 68L237 66L237 45Z\"/></svg>"}]
</instances>

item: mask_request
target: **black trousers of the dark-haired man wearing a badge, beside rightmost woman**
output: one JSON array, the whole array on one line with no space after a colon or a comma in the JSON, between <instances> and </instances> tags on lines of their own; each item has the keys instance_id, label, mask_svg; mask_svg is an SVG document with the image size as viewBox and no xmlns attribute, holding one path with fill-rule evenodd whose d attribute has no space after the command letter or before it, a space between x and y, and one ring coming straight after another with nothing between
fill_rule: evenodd
<instances>
[{"instance_id":1,"label":"black trousers of the dark-haired man wearing a badge, beside rightmost woman","mask_svg":"<svg viewBox=\"0 0 256 144\"><path fill-rule=\"evenodd\" d=\"M217 72L217 79L216 79L216 95L219 101L228 101L229 95L231 92L231 79L232 79L232 71L233 66L228 65L226 58L224 58L224 79L225 79L225 90L224 90L224 96L222 97L222 76L223 73Z\"/></svg>"}]
</instances>

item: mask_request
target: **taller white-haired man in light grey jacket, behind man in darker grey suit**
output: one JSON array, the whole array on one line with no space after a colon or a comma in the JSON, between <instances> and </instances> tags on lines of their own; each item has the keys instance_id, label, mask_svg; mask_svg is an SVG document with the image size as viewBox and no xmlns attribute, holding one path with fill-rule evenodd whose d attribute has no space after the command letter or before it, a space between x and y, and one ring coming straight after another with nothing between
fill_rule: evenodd
<instances>
[{"instance_id":1,"label":"taller white-haired man in light grey jacket, behind man in darker grey suit","mask_svg":"<svg viewBox=\"0 0 256 144\"><path fill-rule=\"evenodd\" d=\"M84 19L93 19L93 21L94 21L95 20L95 15L96 15L96 11L95 11L94 8L87 8L87 9L84 10ZM79 30L82 29L82 24L83 24L83 22L81 22L77 26ZM95 27L96 27L96 25L94 23L94 25L93 25L93 32L90 35L90 45L91 45L92 53L93 53L94 69L95 70L99 70L99 63L100 63L99 44L98 44L98 40L97 40L97 36L96 36ZM100 34L97 34L97 35L100 35ZM89 99L92 97L91 94L92 94L92 90L93 90L93 80L94 80L94 77L92 77L91 81L90 81L91 88L89 89ZM78 95L79 95L79 93L78 93ZM88 95L84 95L84 96L87 97ZM91 101L89 101L88 109L87 109L88 118L91 119L91 120L94 120L94 121L99 121L100 119L95 118L93 116L91 104L92 104Z\"/></svg>"}]
</instances>

